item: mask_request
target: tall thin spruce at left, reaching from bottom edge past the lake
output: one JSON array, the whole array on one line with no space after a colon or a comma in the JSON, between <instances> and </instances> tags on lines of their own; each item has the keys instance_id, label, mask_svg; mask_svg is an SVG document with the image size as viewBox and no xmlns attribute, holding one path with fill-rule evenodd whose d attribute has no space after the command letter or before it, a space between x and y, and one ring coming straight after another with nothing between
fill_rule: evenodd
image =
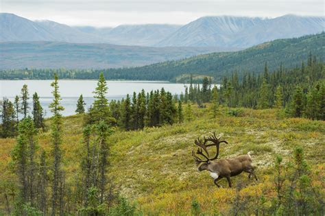
<instances>
[{"instance_id":1,"label":"tall thin spruce at left, reaching from bottom edge past the lake","mask_svg":"<svg viewBox=\"0 0 325 216\"><path fill-rule=\"evenodd\" d=\"M60 205L60 181L62 176L61 163L62 163L62 150L60 145L62 144L62 116L61 111L64 108L60 105L60 93L58 86L58 75L54 74L54 81L51 83L53 87L53 101L49 105L53 117L51 118L51 139L52 139L52 156L53 156L53 167L52 167L52 195L51 195L51 215L58 213L58 207Z\"/></svg>"}]
</instances>

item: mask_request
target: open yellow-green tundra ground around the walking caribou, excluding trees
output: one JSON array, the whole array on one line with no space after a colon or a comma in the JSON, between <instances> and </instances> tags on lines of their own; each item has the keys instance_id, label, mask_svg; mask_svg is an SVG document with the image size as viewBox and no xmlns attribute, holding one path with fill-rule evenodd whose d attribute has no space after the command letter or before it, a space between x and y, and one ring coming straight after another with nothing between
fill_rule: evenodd
<instances>
[{"instance_id":1,"label":"open yellow-green tundra ground around the walking caribou, excluding trees","mask_svg":"<svg viewBox=\"0 0 325 216\"><path fill-rule=\"evenodd\" d=\"M197 200L201 211L206 214L216 211L231 213L236 187L228 189L226 180L220 181L224 189L215 187L208 172L197 172L191 156L192 149L195 149L194 139L210 132L221 134L229 142L221 146L220 158L252 152L253 164L258 167L258 182L248 180L245 173L232 178L234 185L244 185L241 199L260 199L262 193L264 199L273 197L274 158L281 154L287 162L297 145L303 147L304 156L317 175L314 186L321 185L325 165L322 154L325 151L324 121L278 119L276 110L243 109L239 117L232 117L226 108L211 121L208 110L193 106L193 121L143 131L117 131L110 137L111 168L108 176L114 180L115 189L137 202L137 208L145 215L188 215L193 200ZM49 125L49 120L46 124ZM79 169L76 158L80 158L84 145L82 116L65 117L63 128L64 171L67 185L73 185ZM39 145L49 153L50 132L42 132L38 137ZM16 181L16 176L12 176L8 169L10 152L16 144L14 139L0 139L0 145L0 212L5 213L3 194L11 193L10 182ZM269 206L269 201L265 205ZM247 206L242 211L253 210L254 206Z\"/></svg>"}]
</instances>

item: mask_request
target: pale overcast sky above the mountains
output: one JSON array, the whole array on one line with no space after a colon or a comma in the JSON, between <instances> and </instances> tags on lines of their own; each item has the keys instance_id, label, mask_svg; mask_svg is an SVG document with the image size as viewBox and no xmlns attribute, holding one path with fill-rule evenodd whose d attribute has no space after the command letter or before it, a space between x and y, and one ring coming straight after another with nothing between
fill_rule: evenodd
<instances>
[{"instance_id":1,"label":"pale overcast sky above the mountains","mask_svg":"<svg viewBox=\"0 0 325 216\"><path fill-rule=\"evenodd\" d=\"M201 16L324 16L324 0L0 0L0 11L67 25L185 24Z\"/></svg>"}]
</instances>

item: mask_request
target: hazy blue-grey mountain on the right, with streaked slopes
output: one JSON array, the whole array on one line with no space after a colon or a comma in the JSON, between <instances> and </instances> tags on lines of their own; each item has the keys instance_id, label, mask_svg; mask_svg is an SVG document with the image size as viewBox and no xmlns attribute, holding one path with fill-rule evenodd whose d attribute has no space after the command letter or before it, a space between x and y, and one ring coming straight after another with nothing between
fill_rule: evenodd
<instances>
[{"instance_id":1,"label":"hazy blue-grey mountain on the right, with streaked slopes","mask_svg":"<svg viewBox=\"0 0 325 216\"><path fill-rule=\"evenodd\" d=\"M293 38L324 31L324 17L285 15L274 19L236 16L202 17L157 45L247 48L279 38Z\"/></svg>"}]
</instances>

